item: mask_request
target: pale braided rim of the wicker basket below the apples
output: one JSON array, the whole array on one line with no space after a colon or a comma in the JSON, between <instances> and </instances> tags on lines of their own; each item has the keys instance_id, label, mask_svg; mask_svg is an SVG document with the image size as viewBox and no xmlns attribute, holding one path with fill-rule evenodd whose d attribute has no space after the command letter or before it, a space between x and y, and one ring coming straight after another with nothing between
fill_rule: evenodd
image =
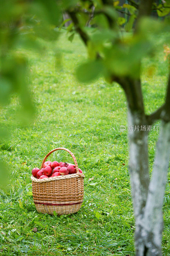
<instances>
[{"instance_id":1,"label":"pale braided rim of the wicker basket below the apples","mask_svg":"<svg viewBox=\"0 0 170 256\"><path fill-rule=\"evenodd\" d=\"M45 178L45 179L37 179L37 178L33 177L33 175L31 175L31 180L33 182L43 183L43 182L49 182L49 181L53 181L53 180L64 180L64 179L71 179L71 178L76 178L76 177L85 178L85 175L84 175L84 173L73 173L73 174L49 177L49 178Z\"/></svg>"}]
</instances>

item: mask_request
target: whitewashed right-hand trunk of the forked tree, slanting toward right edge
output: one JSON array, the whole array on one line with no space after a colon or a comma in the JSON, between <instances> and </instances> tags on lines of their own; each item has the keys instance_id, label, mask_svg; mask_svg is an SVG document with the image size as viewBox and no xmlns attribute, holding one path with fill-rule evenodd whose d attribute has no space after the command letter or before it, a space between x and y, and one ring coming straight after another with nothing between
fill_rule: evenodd
<instances>
[{"instance_id":1,"label":"whitewashed right-hand trunk of the forked tree, slanting toward right edge","mask_svg":"<svg viewBox=\"0 0 170 256\"><path fill-rule=\"evenodd\" d=\"M152 179L144 209L143 232L147 256L160 256L163 231L162 204L170 158L170 122L162 121ZM140 254L138 254L140 255Z\"/></svg>"}]
</instances>

